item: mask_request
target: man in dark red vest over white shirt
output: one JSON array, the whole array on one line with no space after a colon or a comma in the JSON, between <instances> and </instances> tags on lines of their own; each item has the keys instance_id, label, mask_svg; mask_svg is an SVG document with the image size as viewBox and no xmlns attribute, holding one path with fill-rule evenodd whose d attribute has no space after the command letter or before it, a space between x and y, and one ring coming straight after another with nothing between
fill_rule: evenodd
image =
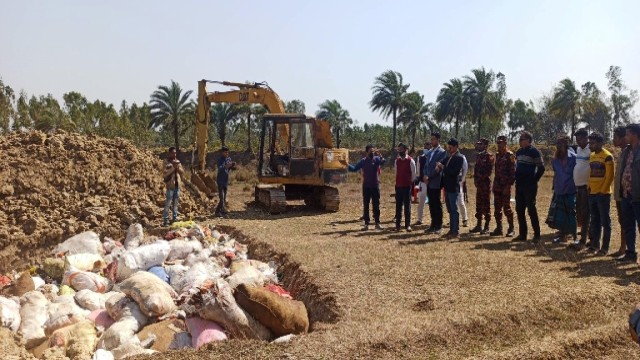
<instances>
[{"instance_id":1,"label":"man in dark red vest over white shirt","mask_svg":"<svg viewBox=\"0 0 640 360\"><path fill-rule=\"evenodd\" d=\"M396 170L396 231L400 231L402 208L404 207L404 227L411 231L411 187L416 177L416 162L407 155L407 146L398 144Z\"/></svg>"}]
</instances>

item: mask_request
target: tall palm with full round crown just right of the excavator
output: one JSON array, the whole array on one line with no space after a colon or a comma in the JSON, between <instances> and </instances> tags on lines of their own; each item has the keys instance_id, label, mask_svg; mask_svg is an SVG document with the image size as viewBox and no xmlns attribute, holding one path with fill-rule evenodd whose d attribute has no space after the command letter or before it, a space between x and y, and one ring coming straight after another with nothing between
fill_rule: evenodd
<instances>
[{"instance_id":1,"label":"tall palm with full round crown just right of the excavator","mask_svg":"<svg viewBox=\"0 0 640 360\"><path fill-rule=\"evenodd\" d=\"M397 115L404 106L405 95L409 84L402 82L402 74L397 71L387 70L378 76L371 90L373 97L369 101L369 107L373 111L380 111L384 118L393 115L392 146L396 148Z\"/></svg>"}]
</instances>

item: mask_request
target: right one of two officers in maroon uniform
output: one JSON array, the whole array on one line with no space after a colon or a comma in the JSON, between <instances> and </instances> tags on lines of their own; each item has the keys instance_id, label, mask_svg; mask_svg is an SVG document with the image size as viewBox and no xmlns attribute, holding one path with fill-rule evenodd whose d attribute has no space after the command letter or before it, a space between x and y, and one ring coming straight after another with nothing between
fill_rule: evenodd
<instances>
[{"instance_id":1,"label":"right one of two officers in maroon uniform","mask_svg":"<svg viewBox=\"0 0 640 360\"><path fill-rule=\"evenodd\" d=\"M513 236L513 211L511 211L511 186L516 181L516 157L507 148L507 137L498 136L498 152L496 153L496 172L493 177L493 208L496 218L496 229L491 236L502 236L502 212L509 223L507 236Z\"/></svg>"}]
</instances>

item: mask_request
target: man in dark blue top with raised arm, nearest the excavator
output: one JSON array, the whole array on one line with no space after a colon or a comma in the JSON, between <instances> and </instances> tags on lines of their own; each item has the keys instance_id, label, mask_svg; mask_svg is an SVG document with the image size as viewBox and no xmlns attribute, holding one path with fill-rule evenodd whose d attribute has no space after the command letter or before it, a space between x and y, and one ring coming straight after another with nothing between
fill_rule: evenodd
<instances>
[{"instance_id":1,"label":"man in dark blue top with raised arm, nearest the excavator","mask_svg":"<svg viewBox=\"0 0 640 360\"><path fill-rule=\"evenodd\" d=\"M382 230L380 225L380 167L385 159L376 151L373 145L365 147L366 155L355 165L349 165L349 171L362 170L362 203L364 226L362 230L369 230L369 203L373 202L373 220L376 229Z\"/></svg>"}]
</instances>

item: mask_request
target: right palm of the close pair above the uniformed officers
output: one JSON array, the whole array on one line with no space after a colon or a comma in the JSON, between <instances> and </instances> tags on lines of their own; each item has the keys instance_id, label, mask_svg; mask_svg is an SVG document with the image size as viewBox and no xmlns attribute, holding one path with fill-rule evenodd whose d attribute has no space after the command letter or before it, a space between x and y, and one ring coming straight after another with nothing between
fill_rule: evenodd
<instances>
[{"instance_id":1,"label":"right palm of the close pair above the uniformed officers","mask_svg":"<svg viewBox=\"0 0 640 360\"><path fill-rule=\"evenodd\" d=\"M471 70L473 76L464 77L465 91L469 96L471 110L478 126L478 139L482 135L482 119L499 116L500 94L493 89L496 75L484 67Z\"/></svg>"}]
</instances>

